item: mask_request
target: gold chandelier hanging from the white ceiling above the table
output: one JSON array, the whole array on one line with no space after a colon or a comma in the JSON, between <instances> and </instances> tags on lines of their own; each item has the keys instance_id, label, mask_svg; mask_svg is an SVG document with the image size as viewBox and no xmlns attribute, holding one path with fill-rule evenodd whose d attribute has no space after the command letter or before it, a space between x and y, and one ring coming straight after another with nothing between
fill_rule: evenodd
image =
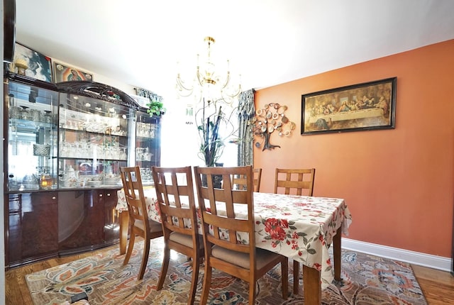
<instances>
[{"instance_id":1,"label":"gold chandelier hanging from the white ceiling above the table","mask_svg":"<svg viewBox=\"0 0 454 305\"><path fill-rule=\"evenodd\" d=\"M232 84L230 62L227 60L226 72L216 71L212 57L215 40L212 37L204 38L206 55L201 58L197 55L196 73L192 82L184 82L180 72L177 72L176 90L179 96L194 96L196 103L207 104L226 103L232 105L240 94L241 85Z\"/></svg>"}]
</instances>

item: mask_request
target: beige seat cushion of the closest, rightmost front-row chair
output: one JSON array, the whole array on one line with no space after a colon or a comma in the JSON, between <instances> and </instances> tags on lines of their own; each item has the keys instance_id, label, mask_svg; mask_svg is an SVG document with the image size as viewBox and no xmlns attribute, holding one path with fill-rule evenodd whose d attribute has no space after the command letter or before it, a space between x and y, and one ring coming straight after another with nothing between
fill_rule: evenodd
<instances>
[{"instance_id":1,"label":"beige seat cushion of the closest, rightmost front-row chair","mask_svg":"<svg viewBox=\"0 0 454 305\"><path fill-rule=\"evenodd\" d=\"M250 269L249 266L249 254L233 251L230 249L219 247L214 245L211 248L211 255L218 258L219 260L225 260L231 264L238 265L245 269ZM255 264L258 270L262 269L270 261L275 260L277 253L272 253L271 251L255 248Z\"/></svg>"}]
</instances>

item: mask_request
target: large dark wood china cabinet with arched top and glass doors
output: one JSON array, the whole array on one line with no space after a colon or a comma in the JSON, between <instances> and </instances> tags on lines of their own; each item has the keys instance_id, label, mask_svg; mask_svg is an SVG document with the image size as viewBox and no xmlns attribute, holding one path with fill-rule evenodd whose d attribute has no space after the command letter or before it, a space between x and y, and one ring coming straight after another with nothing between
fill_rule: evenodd
<instances>
[{"instance_id":1,"label":"large dark wood china cabinet with arched top and glass doors","mask_svg":"<svg viewBox=\"0 0 454 305\"><path fill-rule=\"evenodd\" d=\"M106 84L5 74L6 267L118 243L120 167L151 183L160 117Z\"/></svg>"}]
</instances>

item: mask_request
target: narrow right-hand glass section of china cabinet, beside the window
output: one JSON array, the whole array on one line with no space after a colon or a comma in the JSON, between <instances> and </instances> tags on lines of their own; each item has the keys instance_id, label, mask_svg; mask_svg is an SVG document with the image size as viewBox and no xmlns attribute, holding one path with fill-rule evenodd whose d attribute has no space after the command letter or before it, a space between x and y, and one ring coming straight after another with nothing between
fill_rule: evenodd
<instances>
[{"instance_id":1,"label":"narrow right-hand glass section of china cabinet, beside the window","mask_svg":"<svg viewBox=\"0 0 454 305\"><path fill-rule=\"evenodd\" d=\"M135 165L140 167L143 183L153 182L151 167L160 166L160 117L137 112L135 125Z\"/></svg>"}]
</instances>

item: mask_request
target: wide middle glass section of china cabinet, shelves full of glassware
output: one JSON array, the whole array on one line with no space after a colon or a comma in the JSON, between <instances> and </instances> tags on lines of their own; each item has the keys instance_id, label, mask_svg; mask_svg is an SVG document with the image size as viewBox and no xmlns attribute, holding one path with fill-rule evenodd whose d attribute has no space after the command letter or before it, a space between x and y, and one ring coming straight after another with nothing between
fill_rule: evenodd
<instances>
[{"instance_id":1,"label":"wide middle glass section of china cabinet, shelves full of glassware","mask_svg":"<svg viewBox=\"0 0 454 305\"><path fill-rule=\"evenodd\" d=\"M128 160L126 106L60 94L58 186L118 186Z\"/></svg>"}]
</instances>

